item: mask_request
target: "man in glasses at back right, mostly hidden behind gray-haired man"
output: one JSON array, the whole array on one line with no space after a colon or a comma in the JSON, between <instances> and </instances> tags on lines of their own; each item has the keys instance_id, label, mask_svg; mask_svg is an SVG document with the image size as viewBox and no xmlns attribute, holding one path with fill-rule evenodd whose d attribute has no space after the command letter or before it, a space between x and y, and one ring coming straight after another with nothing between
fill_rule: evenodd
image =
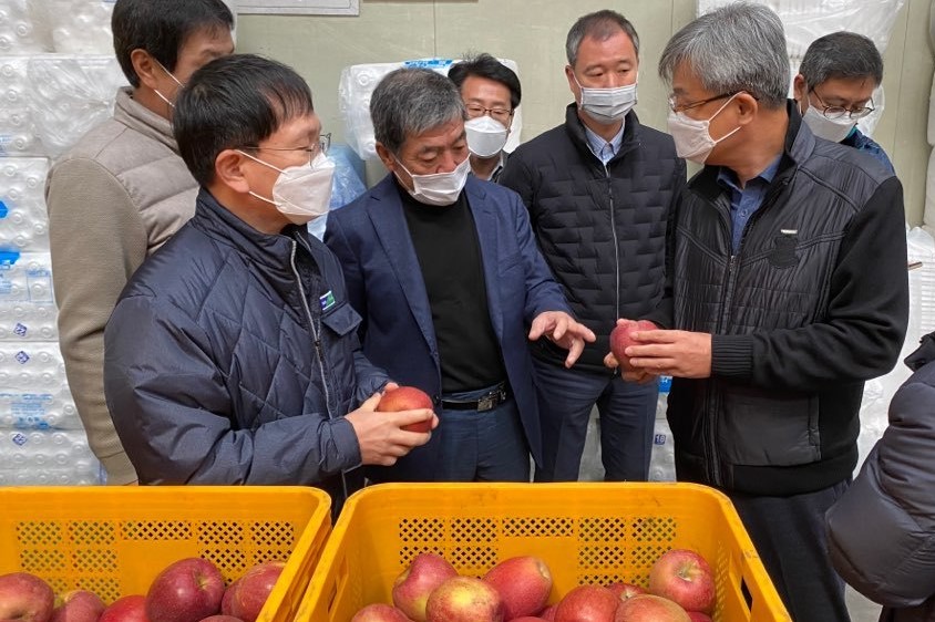
<instances>
[{"instance_id":1,"label":"man in glasses at back right, mostly hidden behind gray-haired man","mask_svg":"<svg viewBox=\"0 0 935 622\"><path fill-rule=\"evenodd\" d=\"M841 31L809 45L793 89L812 134L872 155L894 173L883 147L857 129L857 121L873 112L873 91L882 81L883 58L873 41Z\"/></svg>"}]
</instances>

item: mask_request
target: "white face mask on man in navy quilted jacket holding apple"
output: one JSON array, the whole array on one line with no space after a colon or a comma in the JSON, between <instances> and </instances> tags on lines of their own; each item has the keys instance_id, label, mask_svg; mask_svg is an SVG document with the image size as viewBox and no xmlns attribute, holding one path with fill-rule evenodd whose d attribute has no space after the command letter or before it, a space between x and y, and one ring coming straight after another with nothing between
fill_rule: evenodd
<instances>
[{"instance_id":1,"label":"white face mask on man in navy quilted jacket holding apple","mask_svg":"<svg viewBox=\"0 0 935 622\"><path fill-rule=\"evenodd\" d=\"M238 149L239 151L239 149ZM274 170L279 177L273 184L273 198L268 199L250 190L250 195L276 206L276 209L289 221L306 225L320 216L328 214L331 203L331 179L335 177L335 162L323 153L318 152L315 159L301 166L278 168L268 162L240 152L254 162L258 162Z\"/></svg>"}]
</instances>

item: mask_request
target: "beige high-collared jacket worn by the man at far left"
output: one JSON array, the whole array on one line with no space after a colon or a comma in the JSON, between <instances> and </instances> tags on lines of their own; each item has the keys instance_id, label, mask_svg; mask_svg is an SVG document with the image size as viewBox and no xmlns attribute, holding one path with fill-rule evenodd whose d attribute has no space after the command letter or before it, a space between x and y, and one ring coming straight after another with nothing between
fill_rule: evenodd
<instances>
[{"instance_id":1,"label":"beige high-collared jacket worn by the man at far left","mask_svg":"<svg viewBox=\"0 0 935 622\"><path fill-rule=\"evenodd\" d=\"M113 118L52 167L45 186L65 373L110 484L136 480L104 401L104 326L130 277L195 211L197 184L168 121L117 92Z\"/></svg>"}]
</instances>

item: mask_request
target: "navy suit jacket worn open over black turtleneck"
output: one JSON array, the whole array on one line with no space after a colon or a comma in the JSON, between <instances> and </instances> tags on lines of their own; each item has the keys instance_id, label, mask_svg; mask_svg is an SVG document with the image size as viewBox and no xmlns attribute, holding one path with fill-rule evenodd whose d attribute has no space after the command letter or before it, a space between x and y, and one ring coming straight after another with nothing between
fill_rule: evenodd
<instances>
[{"instance_id":1,"label":"navy suit jacket worn open over black turtleneck","mask_svg":"<svg viewBox=\"0 0 935 622\"><path fill-rule=\"evenodd\" d=\"M571 313L536 247L520 196L468 178L464 188L481 243L491 322L520 408L530 450L542 454L538 407L526 334L544 311ZM325 241L345 269L348 300L363 318L360 341L369 360L393 381L441 398L441 364L432 311L402 201L388 175L353 203L328 216ZM431 480L439 434L392 469L371 469L376 480Z\"/></svg>"}]
</instances>

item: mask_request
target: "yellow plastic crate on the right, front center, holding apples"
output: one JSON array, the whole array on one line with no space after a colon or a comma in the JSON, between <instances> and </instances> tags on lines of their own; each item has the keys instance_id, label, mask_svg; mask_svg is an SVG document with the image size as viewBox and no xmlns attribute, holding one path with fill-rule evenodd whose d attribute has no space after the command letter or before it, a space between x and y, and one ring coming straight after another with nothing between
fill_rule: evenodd
<instances>
[{"instance_id":1,"label":"yellow plastic crate on the right, front center, holding apples","mask_svg":"<svg viewBox=\"0 0 935 622\"><path fill-rule=\"evenodd\" d=\"M584 583L646 585L672 548L716 574L716 622L790 622L733 506L690 484L387 484L353 495L335 525L296 618L348 622L391 601L412 558L442 554L462 574L534 554L554 578L549 603Z\"/></svg>"}]
</instances>

